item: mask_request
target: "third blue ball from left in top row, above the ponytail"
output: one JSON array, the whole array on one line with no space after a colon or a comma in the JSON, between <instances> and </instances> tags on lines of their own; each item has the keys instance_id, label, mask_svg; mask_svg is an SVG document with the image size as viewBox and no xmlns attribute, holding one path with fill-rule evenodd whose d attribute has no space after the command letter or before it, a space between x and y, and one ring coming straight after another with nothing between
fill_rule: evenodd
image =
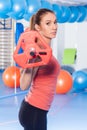
<instances>
[{"instance_id":1,"label":"third blue ball from left in top row, above the ponytail","mask_svg":"<svg viewBox=\"0 0 87 130\"><path fill-rule=\"evenodd\" d=\"M41 8L41 1L40 0L26 0L27 8L24 14L24 19L29 21L31 16L35 14Z\"/></svg>"}]
</instances>

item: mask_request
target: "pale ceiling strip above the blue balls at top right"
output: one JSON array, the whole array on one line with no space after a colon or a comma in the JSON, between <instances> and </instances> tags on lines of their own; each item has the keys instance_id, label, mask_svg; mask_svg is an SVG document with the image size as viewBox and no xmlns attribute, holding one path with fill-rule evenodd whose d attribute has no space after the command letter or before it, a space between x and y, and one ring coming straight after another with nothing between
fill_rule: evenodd
<instances>
[{"instance_id":1,"label":"pale ceiling strip above the blue balls at top right","mask_svg":"<svg viewBox=\"0 0 87 130\"><path fill-rule=\"evenodd\" d=\"M48 0L48 1L67 6L87 5L87 0Z\"/></svg>"}]
</instances>

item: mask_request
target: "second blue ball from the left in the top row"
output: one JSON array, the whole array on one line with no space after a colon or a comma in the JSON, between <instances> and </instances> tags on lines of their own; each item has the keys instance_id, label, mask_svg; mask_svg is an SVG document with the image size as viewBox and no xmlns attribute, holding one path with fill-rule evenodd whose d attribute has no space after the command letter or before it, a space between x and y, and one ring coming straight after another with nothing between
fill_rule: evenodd
<instances>
[{"instance_id":1,"label":"second blue ball from the left in the top row","mask_svg":"<svg viewBox=\"0 0 87 130\"><path fill-rule=\"evenodd\" d=\"M12 10L8 15L16 20L22 19L25 14L26 7L27 4L25 0L12 0Z\"/></svg>"}]
</instances>

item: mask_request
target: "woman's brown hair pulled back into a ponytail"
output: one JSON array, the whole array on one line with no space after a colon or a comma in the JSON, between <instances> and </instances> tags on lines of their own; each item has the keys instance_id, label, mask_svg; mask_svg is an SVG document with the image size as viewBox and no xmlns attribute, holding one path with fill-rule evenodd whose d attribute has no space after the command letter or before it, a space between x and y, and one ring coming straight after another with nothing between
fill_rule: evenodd
<instances>
[{"instance_id":1,"label":"woman's brown hair pulled back into a ponytail","mask_svg":"<svg viewBox=\"0 0 87 130\"><path fill-rule=\"evenodd\" d=\"M42 9L38 10L38 12L36 14L34 14L30 19L30 27L29 27L30 30L35 30L35 24L40 25L42 17L47 13L54 14L54 12L52 10L49 10L46 8L42 8Z\"/></svg>"}]
</instances>

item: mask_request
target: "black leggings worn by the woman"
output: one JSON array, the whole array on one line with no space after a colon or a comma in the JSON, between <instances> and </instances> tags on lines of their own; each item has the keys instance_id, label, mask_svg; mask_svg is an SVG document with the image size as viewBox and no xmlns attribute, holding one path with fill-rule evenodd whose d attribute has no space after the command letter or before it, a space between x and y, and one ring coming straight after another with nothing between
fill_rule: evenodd
<instances>
[{"instance_id":1,"label":"black leggings worn by the woman","mask_svg":"<svg viewBox=\"0 0 87 130\"><path fill-rule=\"evenodd\" d=\"M31 106L23 100L19 121L24 130L47 130L47 111Z\"/></svg>"}]
</instances>

